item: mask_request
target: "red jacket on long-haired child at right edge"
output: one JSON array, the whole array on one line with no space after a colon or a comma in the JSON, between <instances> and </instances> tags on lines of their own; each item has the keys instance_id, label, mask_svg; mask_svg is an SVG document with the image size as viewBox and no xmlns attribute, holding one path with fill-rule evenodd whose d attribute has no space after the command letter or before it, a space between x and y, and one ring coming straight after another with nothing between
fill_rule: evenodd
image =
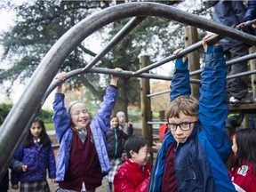
<instances>
[{"instance_id":1,"label":"red jacket on long-haired child at right edge","mask_svg":"<svg viewBox=\"0 0 256 192\"><path fill-rule=\"evenodd\" d=\"M253 173L252 164L244 164L236 168L235 172L228 172L237 191L256 191L256 173Z\"/></svg>"}]
</instances>

